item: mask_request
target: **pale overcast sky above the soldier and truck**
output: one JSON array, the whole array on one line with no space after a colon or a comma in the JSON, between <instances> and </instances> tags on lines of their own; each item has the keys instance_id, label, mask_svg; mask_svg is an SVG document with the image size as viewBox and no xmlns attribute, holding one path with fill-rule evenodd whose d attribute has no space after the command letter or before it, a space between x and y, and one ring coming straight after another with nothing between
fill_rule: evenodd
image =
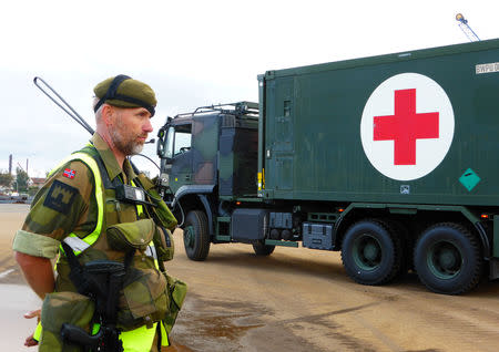
<instances>
[{"instance_id":1,"label":"pale overcast sky above the soldier and truck","mask_svg":"<svg viewBox=\"0 0 499 352\"><path fill-rule=\"evenodd\" d=\"M149 83L166 116L257 101L267 70L499 37L499 1L8 1L0 13L0 169L44 176L90 137L32 83L41 76L94 126L93 86L120 73ZM498 58L499 61L499 58ZM155 132L152 137L155 136ZM155 157L155 145L144 153ZM134 157L154 174L154 166Z\"/></svg>"}]
</instances>

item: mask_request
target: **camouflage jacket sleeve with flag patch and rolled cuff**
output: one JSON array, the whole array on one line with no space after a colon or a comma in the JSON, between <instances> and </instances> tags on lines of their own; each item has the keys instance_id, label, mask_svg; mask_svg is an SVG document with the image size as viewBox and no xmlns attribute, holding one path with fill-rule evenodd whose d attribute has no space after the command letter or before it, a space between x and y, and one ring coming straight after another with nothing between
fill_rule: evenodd
<instances>
[{"instance_id":1,"label":"camouflage jacket sleeve with flag patch and rolled cuff","mask_svg":"<svg viewBox=\"0 0 499 352\"><path fill-rule=\"evenodd\" d=\"M35 195L30 213L13 241L13 250L54 258L69 234L92 231L94 207L92 172L79 161L59 168ZM93 201L92 201L93 200Z\"/></svg>"}]
</instances>

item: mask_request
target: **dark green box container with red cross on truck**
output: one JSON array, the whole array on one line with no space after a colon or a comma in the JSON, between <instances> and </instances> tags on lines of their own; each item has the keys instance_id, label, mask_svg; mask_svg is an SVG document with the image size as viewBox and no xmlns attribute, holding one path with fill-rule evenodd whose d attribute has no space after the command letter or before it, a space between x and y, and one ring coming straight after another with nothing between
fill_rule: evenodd
<instances>
[{"instance_id":1,"label":"dark green box container with red cross on truck","mask_svg":"<svg viewBox=\"0 0 499 352\"><path fill-rule=\"evenodd\" d=\"M258 79L259 196L499 205L499 40Z\"/></svg>"}]
</instances>

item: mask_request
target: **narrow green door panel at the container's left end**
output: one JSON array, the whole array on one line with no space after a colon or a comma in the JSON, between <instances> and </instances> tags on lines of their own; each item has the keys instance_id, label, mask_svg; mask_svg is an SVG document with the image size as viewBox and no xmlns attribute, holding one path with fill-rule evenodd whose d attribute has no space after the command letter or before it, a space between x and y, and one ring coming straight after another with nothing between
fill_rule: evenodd
<instances>
[{"instance_id":1,"label":"narrow green door panel at the container's left end","mask_svg":"<svg viewBox=\"0 0 499 352\"><path fill-rule=\"evenodd\" d=\"M267 81L266 189L293 189L294 80Z\"/></svg>"}]
</instances>

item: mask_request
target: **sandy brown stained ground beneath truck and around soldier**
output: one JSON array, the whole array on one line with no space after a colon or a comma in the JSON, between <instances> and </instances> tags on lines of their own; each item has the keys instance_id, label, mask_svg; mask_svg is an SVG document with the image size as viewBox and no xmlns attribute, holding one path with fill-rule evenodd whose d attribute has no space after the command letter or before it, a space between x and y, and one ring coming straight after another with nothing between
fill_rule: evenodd
<instances>
[{"instance_id":1,"label":"sandy brown stained ground beneath truck and around soldier","mask_svg":"<svg viewBox=\"0 0 499 352\"><path fill-rule=\"evenodd\" d=\"M40 304L11 252L27 205L0 205L0 351L29 351L34 328L22 314ZM212 245L204 262L186 258L175 231L171 275L189 294L166 351L498 351L499 282L466 296L426 290L409 273L384 287L354 283L337 252ZM33 350L33 349L31 349Z\"/></svg>"}]
</instances>

